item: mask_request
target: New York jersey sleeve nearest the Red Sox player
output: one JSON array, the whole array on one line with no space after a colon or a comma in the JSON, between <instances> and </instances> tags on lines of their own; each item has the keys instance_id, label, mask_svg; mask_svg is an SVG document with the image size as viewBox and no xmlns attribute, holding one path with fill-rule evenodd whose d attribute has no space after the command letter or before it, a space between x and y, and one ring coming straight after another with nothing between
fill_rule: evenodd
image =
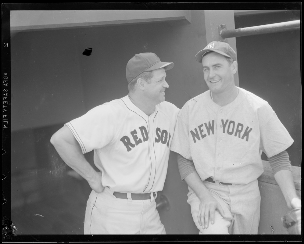
<instances>
[{"instance_id":1,"label":"New York jersey sleeve nearest the Red Sox player","mask_svg":"<svg viewBox=\"0 0 304 244\"><path fill-rule=\"evenodd\" d=\"M192 160L189 144L188 119L188 106L186 103L178 113L170 150L179 153L188 160Z\"/></svg>"}]
</instances>

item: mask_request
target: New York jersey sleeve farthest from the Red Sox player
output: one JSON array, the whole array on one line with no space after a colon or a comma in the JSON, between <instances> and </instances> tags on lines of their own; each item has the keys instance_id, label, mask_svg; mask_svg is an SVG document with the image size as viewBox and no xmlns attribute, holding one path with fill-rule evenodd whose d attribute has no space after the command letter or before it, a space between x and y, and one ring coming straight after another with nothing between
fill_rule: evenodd
<instances>
[{"instance_id":1,"label":"New York jersey sleeve farthest from the Red Sox player","mask_svg":"<svg viewBox=\"0 0 304 244\"><path fill-rule=\"evenodd\" d=\"M260 146L267 157L277 155L294 142L268 103L259 109L259 120L261 122Z\"/></svg>"}]
</instances>

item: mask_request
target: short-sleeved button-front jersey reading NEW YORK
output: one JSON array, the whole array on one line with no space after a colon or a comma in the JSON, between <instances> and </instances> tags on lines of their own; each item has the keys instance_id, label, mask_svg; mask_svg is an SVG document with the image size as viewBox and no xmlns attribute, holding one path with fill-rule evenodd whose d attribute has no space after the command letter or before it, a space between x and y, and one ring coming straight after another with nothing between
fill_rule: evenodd
<instances>
[{"instance_id":1,"label":"short-sleeved button-front jersey reading NEW YORK","mask_svg":"<svg viewBox=\"0 0 304 244\"><path fill-rule=\"evenodd\" d=\"M177 118L171 150L193 160L202 180L247 184L263 173L268 157L293 139L268 102L238 88L233 102L219 106L210 90L189 100Z\"/></svg>"}]
</instances>

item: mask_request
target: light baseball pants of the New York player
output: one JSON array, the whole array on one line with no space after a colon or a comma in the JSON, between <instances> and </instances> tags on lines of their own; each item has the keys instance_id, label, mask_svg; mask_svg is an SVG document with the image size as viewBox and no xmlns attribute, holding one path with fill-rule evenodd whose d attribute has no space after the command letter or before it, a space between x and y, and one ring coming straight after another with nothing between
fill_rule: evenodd
<instances>
[{"instance_id":1,"label":"light baseball pants of the New York player","mask_svg":"<svg viewBox=\"0 0 304 244\"><path fill-rule=\"evenodd\" d=\"M208 228L203 229L198 224L198 208L200 200L189 188L187 202L191 206L193 221L199 230L199 234L246 234L258 233L260 219L260 202L258 181L249 184L221 185L218 182L203 182L213 197L220 203L224 212L223 218L215 211L214 224L210 223Z\"/></svg>"}]
</instances>

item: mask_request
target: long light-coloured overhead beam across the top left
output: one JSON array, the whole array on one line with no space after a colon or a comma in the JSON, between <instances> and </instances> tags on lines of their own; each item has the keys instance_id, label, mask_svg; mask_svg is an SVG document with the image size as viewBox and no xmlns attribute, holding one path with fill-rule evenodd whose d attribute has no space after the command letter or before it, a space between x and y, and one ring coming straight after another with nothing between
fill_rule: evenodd
<instances>
[{"instance_id":1,"label":"long light-coloured overhead beam across the top left","mask_svg":"<svg viewBox=\"0 0 304 244\"><path fill-rule=\"evenodd\" d=\"M88 27L184 20L189 10L18 10L11 11L11 31Z\"/></svg>"}]
</instances>

